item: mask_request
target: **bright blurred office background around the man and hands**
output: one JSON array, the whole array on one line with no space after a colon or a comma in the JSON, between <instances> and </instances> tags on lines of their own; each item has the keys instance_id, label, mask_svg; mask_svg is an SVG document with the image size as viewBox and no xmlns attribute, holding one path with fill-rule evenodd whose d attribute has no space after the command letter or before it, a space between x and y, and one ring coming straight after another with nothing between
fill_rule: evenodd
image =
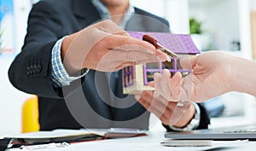
<instances>
[{"instance_id":1,"label":"bright blurred office background around the man and hands","mask_svg":"<svg viewBox=\"0 0 256 151\"><path fill-rule=\"evenodd\" d=\"M8 78L8 69L20 52L26 34L27 15L36 0L0 0L0 134L20 132L21 107L30 95L16 90ZM255 0L131 0L170 21L173 33L191 33L201 51L224 50L247 59L256 57ZM249 74L249 73L248 73ZM242 79L237 79L242 80ZM203 93L203 92L202 92ZM231 92L212 99L209 106L224 105L212 126L239 125L255 122L253 96ZM209 103L210 104L210 103ZM231 118L236 117L237 120ZM230 119L230 120L229 120Z\"/></svg>"}]
</instances>

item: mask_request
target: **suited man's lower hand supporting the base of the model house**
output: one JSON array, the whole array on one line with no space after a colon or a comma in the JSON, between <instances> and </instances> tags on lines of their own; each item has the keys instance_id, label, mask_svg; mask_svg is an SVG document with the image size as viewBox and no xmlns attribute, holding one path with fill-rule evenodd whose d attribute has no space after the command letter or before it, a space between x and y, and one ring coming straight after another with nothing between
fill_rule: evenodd
<instances>
[{"instance_id":1,"label":"suited man's lower hand supporting the base of the model house","mask_svg":"<svg viewBox=\"0 0 256 151\"><path fill-rule=\"evenodd\" d=\"M169 102L154 90L137 92L135 97L143 107L154 113L164 125L181 128L188 125L195 115L195 106L192 102L184 102L183 107L178 107L177 102Z\"/></svg>"}]
</instances>

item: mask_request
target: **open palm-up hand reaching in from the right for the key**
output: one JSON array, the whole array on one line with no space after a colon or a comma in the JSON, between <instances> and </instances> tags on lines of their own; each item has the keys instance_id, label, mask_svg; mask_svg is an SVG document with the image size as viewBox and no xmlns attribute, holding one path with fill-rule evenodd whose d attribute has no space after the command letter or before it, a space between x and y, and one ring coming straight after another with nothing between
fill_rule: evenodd
<instances>
[{"instance_id":1,"label":"open palm-up hand reaching in from the right for the key","mask_svg":"<svg viewBox=\"0 0 256 151\"><path fill-rule=\"evenodd\" d=\"M223 52L210 51L193 57L182 58L184 69L192 70L185 78L176 73L173 78L168 70L154 74L151 84L168 101L203 102L231 90L233 57Z\"/></svg>"}]
</instances>

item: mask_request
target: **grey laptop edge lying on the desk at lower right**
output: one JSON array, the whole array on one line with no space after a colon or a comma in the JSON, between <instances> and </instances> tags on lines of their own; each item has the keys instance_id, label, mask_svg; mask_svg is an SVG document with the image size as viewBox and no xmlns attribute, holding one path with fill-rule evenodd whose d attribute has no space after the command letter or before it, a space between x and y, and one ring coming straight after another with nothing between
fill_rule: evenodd
<instances>
[{"instance_id":1,"label":"grey laptop edge lying on the desk at lower right","mask_svg":"<svg viewBox=\"0 0 256 151\"><path fill-rule=\"evenodd\" d=\"M167 132L166 138L180 140L238 140L256 141L256 125L240 125L196 131Z\"/></svg>"}]
</instances>

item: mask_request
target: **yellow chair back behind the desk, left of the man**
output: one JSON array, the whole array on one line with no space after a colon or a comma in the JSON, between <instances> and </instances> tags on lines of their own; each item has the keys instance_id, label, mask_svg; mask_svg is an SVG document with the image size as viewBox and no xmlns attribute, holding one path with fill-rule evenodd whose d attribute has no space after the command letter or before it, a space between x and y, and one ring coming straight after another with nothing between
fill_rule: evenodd
<instances>
[{"instance_id":1,"label":"yellow chair back behind the desk, left of the man","mask_svg":"<svg viewBox=\"0 0 256 151\"><path fill-rule=\"evenodd\" d=\"M22 107L21 132L39 131L38 96L30 96Z\"/></svg>"}]
</instances>

